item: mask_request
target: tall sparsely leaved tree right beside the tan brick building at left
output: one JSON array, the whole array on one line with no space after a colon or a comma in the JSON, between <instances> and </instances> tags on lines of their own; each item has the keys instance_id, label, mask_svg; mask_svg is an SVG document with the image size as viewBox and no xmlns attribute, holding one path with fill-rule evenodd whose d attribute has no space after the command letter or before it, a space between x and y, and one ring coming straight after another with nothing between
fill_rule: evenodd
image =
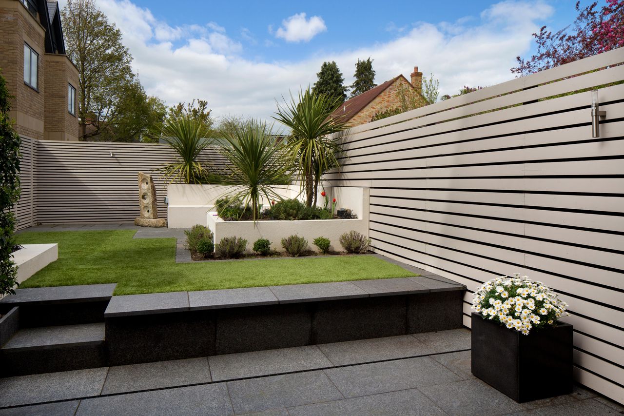
<instances>
[{"instance_id":1,"label":"tall sparsely leaved tree right beside the tan brick building at left","mask_svg":"<svg viewBox=\"0 0 624 416\"><path fill-rule=\"evenodd\" d=\"M97 136L122 117L118 103L132 86L132 56L122 34L94 0L68 0L61 12L66 51L79 72L80 138ZM87 133L87 125L92 129Z\"/></svg>"}]
</instances>

